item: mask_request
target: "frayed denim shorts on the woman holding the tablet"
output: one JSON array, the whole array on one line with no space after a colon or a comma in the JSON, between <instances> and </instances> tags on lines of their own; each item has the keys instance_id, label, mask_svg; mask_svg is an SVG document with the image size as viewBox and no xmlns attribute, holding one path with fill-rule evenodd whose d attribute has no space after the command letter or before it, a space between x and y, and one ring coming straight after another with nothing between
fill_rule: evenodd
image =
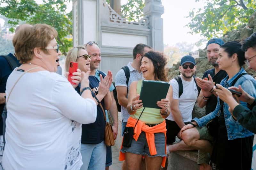
<instances>
[{"instance_id":1,"label":"frayed denim shorts on the woman holding the tablet","mask_svg":"<svg viewBox=\"0 0 256 170\"><path fill-rule=\"evenodd\" d=\"M165 154L166 145L165 145L164 133L154 133L154 135L155 135L156 155L150 155L148 142L146 139L146 133L143 131L140 133L140 136L137 141L135 141L134 138L132 139L131 147L127 148L123 146L121 152L123 153L130 152L138 155L147 155L148 157L166 156Z\"/></svg>"}]
</instances>

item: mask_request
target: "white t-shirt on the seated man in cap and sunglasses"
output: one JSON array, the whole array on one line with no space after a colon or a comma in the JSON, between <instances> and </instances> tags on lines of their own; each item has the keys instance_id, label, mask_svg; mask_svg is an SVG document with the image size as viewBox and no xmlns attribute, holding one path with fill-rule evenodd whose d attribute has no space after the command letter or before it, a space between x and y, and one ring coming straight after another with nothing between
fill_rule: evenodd
<instances>
[{"instance_id":1,"label":"white t-shirt on the seated man in cap and sunglasses","mask_svg":"<svg viewBox=\"0 0 256 170\"><path fill-rule=\"evenodd\" d=\"M192 119L192 111L197 99L198 90L196 88L196 83L194 78L192 78L191 81L185 81L181 77L181 80L183 85L183 93L181 94L180 98L179 98L179 84L177 80L173 78L169 82L169 84L172 85L172 89L173 89L172 99L179 100L179 109L183 118L183 122L190 122ZM174 121L172 112L166 119Z\"/></svg>"}]
</instances>

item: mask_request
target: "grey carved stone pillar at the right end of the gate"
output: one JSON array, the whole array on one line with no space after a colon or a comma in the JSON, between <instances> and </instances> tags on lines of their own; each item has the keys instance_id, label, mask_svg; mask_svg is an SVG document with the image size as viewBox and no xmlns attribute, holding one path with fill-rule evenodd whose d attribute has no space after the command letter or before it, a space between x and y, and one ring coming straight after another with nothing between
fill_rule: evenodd
<instances>
[{"instance_id":1,"label":"grey carved stone pillar at the right end of the gate","mask_svg":"<svg viewBox=\"0 0 256 170\"><path fill-rule=\"evenodd\" d=\"M152 47L164 52L163 18L164 6L161 0L145 0L144 16L149 17L149 28L152 31Z\"/></svg>"}]
</instances>

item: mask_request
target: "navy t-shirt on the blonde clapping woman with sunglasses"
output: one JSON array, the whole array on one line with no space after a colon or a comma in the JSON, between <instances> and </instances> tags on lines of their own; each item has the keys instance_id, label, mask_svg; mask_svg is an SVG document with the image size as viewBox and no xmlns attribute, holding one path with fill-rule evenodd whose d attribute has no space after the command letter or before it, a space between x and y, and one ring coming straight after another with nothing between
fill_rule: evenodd
<instances>
[{"instance_id":1,"label":"navy t-shirt on the blonde clapping woman with sunglasses","mask_svg":"<svg viewBox=\"0 0 256 170\"><path fill-rule=\"evenodd\" d=\"M89 76L90 88L98 94L99 80L95 76ZM76 91L80 92L80 84L76 87ZM94 97L94 93L92 92ZM104 100L101 100L101 105L104 107ZM100 105L97 105L97 118L94 123L82 124L82 144L99 144L104 140L105 136L105 119Z\"/></svg>"}]
</instances>

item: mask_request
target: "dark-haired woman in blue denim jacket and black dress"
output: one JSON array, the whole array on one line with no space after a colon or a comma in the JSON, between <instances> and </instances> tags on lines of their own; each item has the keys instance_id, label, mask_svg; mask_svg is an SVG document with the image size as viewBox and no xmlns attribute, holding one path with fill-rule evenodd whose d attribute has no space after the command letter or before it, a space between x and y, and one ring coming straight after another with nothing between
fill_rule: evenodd
<instances>
[{"instance_id":1,"label":"dark-haired woman in blue denim jacket and black dress","mask_svg":"<svg viewBox=\"0 0 256 170\"><path fill-rule=\"evenodd\" d=\"M228 73L228 76L220 82L220 85L225 88L230 87L240 74L246 73L241 67L245 58L244 52L240 48L241 44L238 41L227 42L220 48L217 62L219 68ZM256 86L256 81L252 76L242 75L234 86L238 87L238 85L241 85L251 96L256 97L256 90L253 88ZM246 107L245 102L241 102L241 105ZM202 128L216 117L220 106L218 97L216 109L200 119L194 118L193 123ZM218 123L218 135L210 162L214 163L213 165L216 164L217 169L251 169L253 133L234 120L228 111L228 104L225 102ZM189 128L193 128L193 126L188 124L181 131Z\"/></svg>"}]
</instances>

